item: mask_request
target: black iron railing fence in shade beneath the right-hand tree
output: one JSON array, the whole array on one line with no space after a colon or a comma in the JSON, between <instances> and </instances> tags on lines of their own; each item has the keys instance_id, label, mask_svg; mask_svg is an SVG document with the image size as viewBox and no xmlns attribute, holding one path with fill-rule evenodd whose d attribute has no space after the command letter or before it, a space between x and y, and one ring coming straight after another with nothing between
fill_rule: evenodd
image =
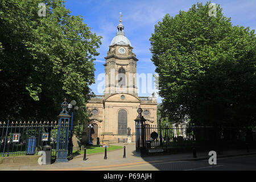
<instances>
[{"instance_id":1,"label":"black iron railing fence in shade beneath the right-hand tree","mask_svg":"<svg viewBox=\"0 0 256 182\"><path fill-rule=\"evenodd\" d=\"M144 132L142 131L144 127ZM145 139L147 154L157 151L191 150L224 150L231 148L245 148L246 145L256 146L255 127L224 127L198 125L137 125L137 140ZM144 137L141 136L144 134ZM179 150L180 149L180 150Z\"/></svg>"}]
</instances>

